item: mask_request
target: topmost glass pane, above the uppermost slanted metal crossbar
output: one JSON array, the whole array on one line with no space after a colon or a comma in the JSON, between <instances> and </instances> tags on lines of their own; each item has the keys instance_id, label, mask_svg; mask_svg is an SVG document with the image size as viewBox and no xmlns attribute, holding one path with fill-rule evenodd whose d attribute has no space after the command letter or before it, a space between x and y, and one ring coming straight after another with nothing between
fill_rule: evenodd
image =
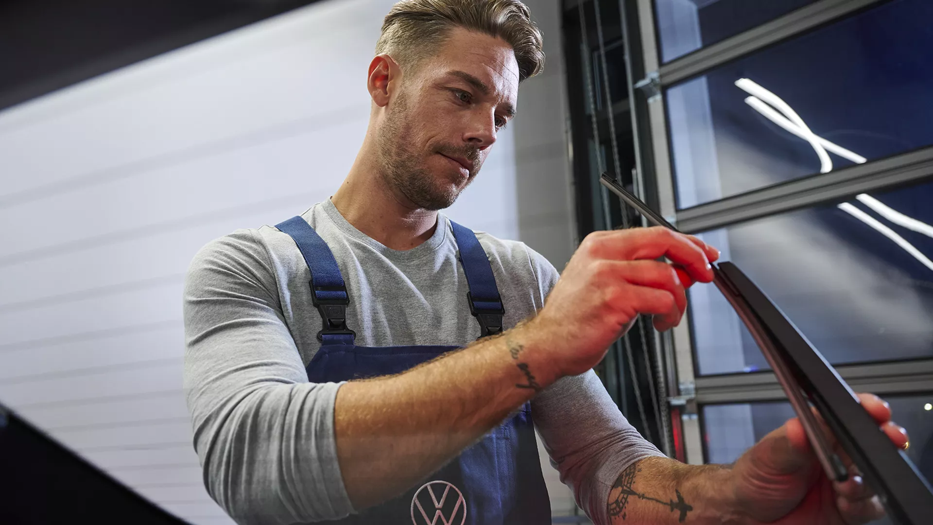
<instances>
[{"instance_id":1,"label":"topmost glass pane, above the uppermost slanted metal crossbar","mask_svg":"<svg viewBox=\"0 0 933 525\"><path fill-rule=\"evenodd\" d=\"M772 21L816 0L655 0L661 61Z\"/></svg>"}]
</instances>

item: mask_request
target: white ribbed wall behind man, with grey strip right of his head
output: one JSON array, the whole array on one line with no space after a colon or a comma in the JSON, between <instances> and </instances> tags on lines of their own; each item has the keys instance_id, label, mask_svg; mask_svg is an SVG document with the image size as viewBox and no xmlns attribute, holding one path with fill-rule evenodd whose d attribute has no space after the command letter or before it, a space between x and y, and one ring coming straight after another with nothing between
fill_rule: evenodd
<instances>
[{"instance_id":1,"label":"white ribbed wall behind man, with grey strip right of his head","mask_svg":"<svg viewBox=\"0 0 933 525\"><path fill-rule=\"evenodd\" d=\"M231 522L191 447L184 273L208 240L284 220L340 184L392 4L300 7L0 113L4 404L179 518ZM448 213L563 267L575 232L560 6L529 5L547 70L522 85L522 119ZM548 481L569 513L569 490Z\"/></svg>"}]
</instances>

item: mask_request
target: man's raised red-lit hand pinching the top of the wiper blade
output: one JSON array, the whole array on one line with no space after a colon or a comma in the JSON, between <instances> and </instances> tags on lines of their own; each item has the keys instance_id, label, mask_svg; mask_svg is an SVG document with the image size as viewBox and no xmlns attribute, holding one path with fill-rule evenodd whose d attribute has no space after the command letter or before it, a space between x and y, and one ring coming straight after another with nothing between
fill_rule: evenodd
<instances>
[{"instance_id":1,"label":"man's raised red-lit hand pinching the top of the wiper blade","mask_svg":"<svg viewBox=\"0 0 933 525\"><path fill-rule=\"evenodd\" d=\"M666 257L673 262L660 262ZM558 376L592 368L638 314L654 326L677 325L694 281L710 282L719 252L692 235L661 227L593 232L583 239L529 324L552 348Z\"/></svg>"}]
</instances>

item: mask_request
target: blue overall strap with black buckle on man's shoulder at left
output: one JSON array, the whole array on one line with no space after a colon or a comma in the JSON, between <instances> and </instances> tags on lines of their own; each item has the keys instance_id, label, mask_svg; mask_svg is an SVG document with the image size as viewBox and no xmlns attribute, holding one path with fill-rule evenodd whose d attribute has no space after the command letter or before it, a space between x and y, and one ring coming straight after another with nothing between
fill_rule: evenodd
<instances>
[{"instance_id":1,"label":"blue overall strap with black buckle on man's shoulder at left","mask_svg":"<svg viewBox=\"0 0 933 525\"><path fill-rule=\"evenodd\" d=\"M321 313L323 326L317 333L322 343L352 345L356 333L347 328L346 306L350 304L341 269L327 243L300 216L275 225L295 240L311 270L311 296Z\"/></svg>"}]
</instances>

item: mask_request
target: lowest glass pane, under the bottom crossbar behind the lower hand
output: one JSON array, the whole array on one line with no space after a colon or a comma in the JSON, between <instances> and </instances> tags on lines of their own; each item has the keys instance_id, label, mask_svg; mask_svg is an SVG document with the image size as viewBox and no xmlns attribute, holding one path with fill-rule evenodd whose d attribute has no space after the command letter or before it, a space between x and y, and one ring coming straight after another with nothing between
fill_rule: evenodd
<instances>
[{"instance_id":1,"label":"lowest glass pane, under the bottom crossbar behind the lower hand","mask_svg":"<svg viewBox=\"0 0 933 525\"><path fill-rule=\"evenodd\" d=\"M884 396L893 419L907 429L907 456L926 479L933 479L933 394ZM926 407L930 409L927 410ZM702 407L706 461L731 463L765 434L794 417L787 403L708 404ZM890 524L888 518L872 525Z\"/></svg>"}]
</instances>

